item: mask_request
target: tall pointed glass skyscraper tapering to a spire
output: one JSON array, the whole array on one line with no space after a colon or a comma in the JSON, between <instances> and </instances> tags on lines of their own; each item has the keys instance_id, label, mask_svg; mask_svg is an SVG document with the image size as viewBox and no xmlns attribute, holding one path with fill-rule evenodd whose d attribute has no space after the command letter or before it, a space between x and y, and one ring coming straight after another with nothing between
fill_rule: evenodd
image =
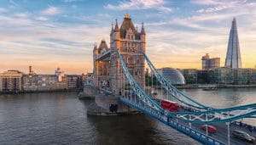
<instances>
[{"instance_id":1,"label":"tall pointed glass skyscraper tapering to a spire","mask_svg":"<svg viewBox=\"0 0 256 145\"><path fill-rule=\"evenodd\" d=\"M228 51L225 60L225 67L241 68L241 53L236 29L236 18L232 20Z\"/></svg>"}]
</instances>

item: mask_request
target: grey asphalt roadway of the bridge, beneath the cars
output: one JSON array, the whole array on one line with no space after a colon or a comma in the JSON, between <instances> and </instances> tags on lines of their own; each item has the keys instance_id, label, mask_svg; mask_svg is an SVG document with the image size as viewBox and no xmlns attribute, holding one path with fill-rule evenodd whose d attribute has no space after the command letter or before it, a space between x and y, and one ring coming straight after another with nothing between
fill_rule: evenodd
<instances>
[{"instance_id":1,"label":"grey asphalt roadway of the bridge, beneath the cars","mask_svg":"<svg viewBox=\"0 0 256 145\"><path fill-rule=\"evenodd\" d=\"M187 111L185 109L180 109L179 111ZM177 121L177 120L176 120ZM184 122L182 120L178 120L178 123L181 123L183 125L189 126L189 123ZM216 123L216 124L212 124L216 127L217 132L216 133L208 133L209 137L213 137L218 139L218 141L224 142L226 144L228 144L228 125L226 125L225 123ZM201 124L191 124L191 128L194 129L195 131L199 131L201 133L207 134L207 131L204 131L201 129ZM241 145L241 144L245 144L245 145L256 145L256 141L255 142L246 142L246 141L242 141L240 139L237 139L235 137L232 136L232 132L235 130L239 130L239 131L245 131L247 132L250 136L255 137L256 138L256 131L249 131L247 127L245 126L240 126L240 125L235 125L235 124L230 124L230 144L231 145Z\"/></svg>"}]
</instances>

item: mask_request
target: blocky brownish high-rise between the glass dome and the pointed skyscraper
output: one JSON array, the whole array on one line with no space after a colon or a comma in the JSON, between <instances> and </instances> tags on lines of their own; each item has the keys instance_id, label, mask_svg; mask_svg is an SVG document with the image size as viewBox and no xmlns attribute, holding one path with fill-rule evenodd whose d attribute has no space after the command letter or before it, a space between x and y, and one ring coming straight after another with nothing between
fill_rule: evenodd
<instances>
[{"instance_id":1,"label":"blocky brownish high-rise between the glass dome and the pointed skyscraper","mask_svg":"<svg viewBox=\"0 0 256 145\"><path fill-rule=\"evenodd\" d=\"M220 58L210 59L210 55L207 53L201 58L202 70L210 70L220 67Z\"/></svg>"}]
</instances>

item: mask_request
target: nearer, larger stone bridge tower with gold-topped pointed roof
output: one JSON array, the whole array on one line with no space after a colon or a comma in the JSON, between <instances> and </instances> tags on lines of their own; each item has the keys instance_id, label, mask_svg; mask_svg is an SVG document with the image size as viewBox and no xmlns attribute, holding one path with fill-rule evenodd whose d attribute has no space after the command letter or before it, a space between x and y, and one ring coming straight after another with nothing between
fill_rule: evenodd
<instances>
[{"instance_id":1,"label":"nearer, larger stone bridge tower with gold-topped pointed roof","mask_svg":"<svg viewBox=\"0 0 256 145\"><path fill-rule=\"evenodd\" d=\"M110 87L114 96L123 95L121 80L121 68L119 58L116 51L122 55L127 68L131 75L135 78L142 88L145 86L145 59L143 53L146 50L146 33L144 26L139 32L131 21L131 15L125 14L122 25L119 28L118 20L116 20L114 28L110 34L111 48L111 83Z\"/></svg>"}]
</instances>

